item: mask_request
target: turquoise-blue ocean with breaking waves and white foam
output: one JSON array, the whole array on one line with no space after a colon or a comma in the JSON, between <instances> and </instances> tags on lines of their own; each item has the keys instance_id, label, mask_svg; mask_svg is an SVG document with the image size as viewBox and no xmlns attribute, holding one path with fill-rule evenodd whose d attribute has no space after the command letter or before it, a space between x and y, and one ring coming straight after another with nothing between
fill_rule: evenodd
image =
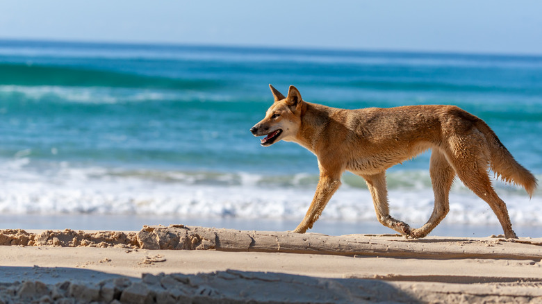
<instances>
[{"instance_id":1,"label":"turquoise-blue ocean with breaking waves and white foam","mask_svg":"<svg viewBox=\"0 0 542 304\"><path fill-rule=\"evenodd\" d=\"M294 143L249 133L284 94L336 108L452 104L484 119L542 178L542 57L0 41L0 228L139 230L184 223L292 230L318 181ZM429 153L388 170L391 214L421 226ZM542 196L495 181L518 235L542 237ZM313 230L393 233L343 176ZM433 235L500 234L457 180Z\"/></svg>"}]
</instances>

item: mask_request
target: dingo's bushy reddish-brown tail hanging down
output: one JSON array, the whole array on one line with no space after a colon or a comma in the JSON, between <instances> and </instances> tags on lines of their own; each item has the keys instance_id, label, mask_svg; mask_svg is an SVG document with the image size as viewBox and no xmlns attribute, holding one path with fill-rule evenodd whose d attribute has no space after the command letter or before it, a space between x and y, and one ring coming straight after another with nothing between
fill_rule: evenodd
<instances>
[{"instance_id":1,"label":"dingo's bushy reddish-brown tail hanging down","mask_svg":"<svg viewBox=\"0 0 542 304\"><path fill-rule=\"evenodd\" d=\"M476 126L478 130L486 135L489 150L491 151L491 170L505 182L523 186L525 191L529 194L529 197L532 197L534 190L536 190L536 186L538 186L538 182L534 175L521 164L518 164L514 159L514 156L512 156L504 144L500 142L495 132L493 132L482 119L477 121Z\"/></svg>"}]
</instances>

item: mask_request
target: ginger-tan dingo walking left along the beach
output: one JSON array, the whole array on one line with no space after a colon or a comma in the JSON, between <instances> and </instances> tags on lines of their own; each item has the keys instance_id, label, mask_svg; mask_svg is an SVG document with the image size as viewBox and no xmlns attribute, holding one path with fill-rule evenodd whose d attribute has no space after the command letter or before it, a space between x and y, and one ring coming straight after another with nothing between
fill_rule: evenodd
<instances>
[{"instance_id":1,"label":"ginger-tan dingo walking left along the beach","mask_svg":"<svg viewBox=\"0 0 542 304\"><path fill-rule=\"evenodd\" d=\"M489 204L504 236L517 237L507 206L493 190L488 169L508 183L523 186L529 196L536 189L536 178L514 160L482 119L453 105L330 108L304 101L294 86L286 97L269 86L274 103L250 131L255 136L267 135L262 146L280 140L297 142L316 155L320 169L314 199L295 233L313 227L338 189L340 176L348 170L365 178L378 221L404 237L425 237L444 219L456 175ZM425 225L411 229L389 214L386 169L427 149L432 149L429 174L434 210Z\"/></svg>"}]
</instances>

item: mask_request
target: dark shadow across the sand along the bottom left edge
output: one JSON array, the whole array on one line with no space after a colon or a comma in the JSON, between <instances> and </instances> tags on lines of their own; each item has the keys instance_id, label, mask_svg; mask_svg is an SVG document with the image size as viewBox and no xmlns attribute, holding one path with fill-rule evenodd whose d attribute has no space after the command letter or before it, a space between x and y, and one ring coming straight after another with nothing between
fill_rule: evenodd
<instances>
[{"instance_id":1,"label":"dark shadow across the sand along the bottom left edge","mask_svg":"<svg viewBox=\"0 0 542 304\"><path fill-rule=\"evenodd\" d=\"M217 271L142 278L70 268L0 267L0 299L8 302L108 303L420 303L381 280L315 278L286 273ZM71 300L70 300L71 301Z\"/></svg>"}]
</instances>

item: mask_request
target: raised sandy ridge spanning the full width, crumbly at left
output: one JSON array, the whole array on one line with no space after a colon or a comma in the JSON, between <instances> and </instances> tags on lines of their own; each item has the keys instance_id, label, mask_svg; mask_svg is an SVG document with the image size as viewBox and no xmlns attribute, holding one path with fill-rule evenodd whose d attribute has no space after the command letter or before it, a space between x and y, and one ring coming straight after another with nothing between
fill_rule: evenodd
<instances>
[{"instance_id":1,"label":"raised sandy ridge spanning the full width, crumbly at left","mask_svg":"<svg viewBox=\"0 0 542 304\"><path fill-rule=\"evenodd\" d=\"M520 250L518 244L520 243ZM439 246L435 246L438 244ZM540 260L541 239L503 237L427 237L404 239L400 235L342 235L243 231L197 226L144 226L138 233L104 231L0 230L0 245L22 246L122 246L151 250L216 250L278 253L311 253L381 257L507 258ZM444 246L442 246L444 245ZM514 246L512 246L514 245Z\"/></svg>"}]
</instances>

